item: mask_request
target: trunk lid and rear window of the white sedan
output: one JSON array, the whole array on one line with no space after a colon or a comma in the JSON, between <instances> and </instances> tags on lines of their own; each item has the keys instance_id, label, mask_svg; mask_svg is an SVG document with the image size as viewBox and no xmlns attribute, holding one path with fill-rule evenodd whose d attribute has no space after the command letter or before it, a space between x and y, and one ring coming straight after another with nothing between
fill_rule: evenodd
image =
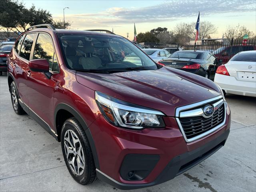
<instances>
[{"instance_id":1,"label":"trunk lid and rear window of the white sedan","mask_svg":"<svg viewBox=\"0 0 256 192\"><path fill-rule=\"evenodd\" d=\"M240 81L256 82L256 52L239 53L226 64L230 76Z\"/></svg>"}]
</instances>

